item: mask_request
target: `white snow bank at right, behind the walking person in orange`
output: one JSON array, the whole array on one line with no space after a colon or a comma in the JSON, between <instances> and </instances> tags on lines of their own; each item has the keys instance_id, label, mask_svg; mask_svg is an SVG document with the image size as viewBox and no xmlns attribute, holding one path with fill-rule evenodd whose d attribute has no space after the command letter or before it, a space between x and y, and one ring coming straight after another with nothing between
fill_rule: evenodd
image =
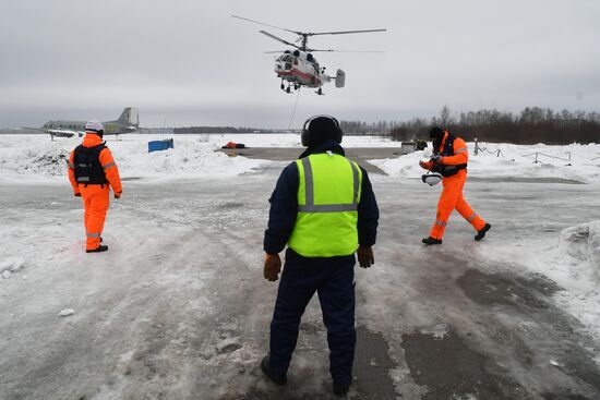
<instances>
[{"instance_id":1,"label":"white snow bank at right, behind the walking person in orange","mask_svg":"<svg viewBox=\"0 0 600 400\"><path fill-rule=\"evenodd\" d=\"M471 177L560 178L585 183L600 182L600 145L572 144L568 146L521 146L479 143L487 150L475 156L475 144L469 146ZM497 153L500 150L500 154ZM536 154L538 162L536 161ZM431 144L425 150L398 158L371 160L392 177L419 178L424 170L420 159L431 157Z\"/></svg>"}]
</instances>

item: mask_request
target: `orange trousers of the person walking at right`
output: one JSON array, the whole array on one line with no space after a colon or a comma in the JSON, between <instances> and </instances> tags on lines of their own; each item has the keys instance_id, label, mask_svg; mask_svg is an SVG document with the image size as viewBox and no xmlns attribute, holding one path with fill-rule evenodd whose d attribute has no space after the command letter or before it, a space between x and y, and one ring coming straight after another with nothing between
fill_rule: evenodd
<instances>
[{"instance_id":1,"label":"orange trousers of the person walking at right","mask_svg":"<svg viewBox=\"0 0 600 400\"><path fill-rule=\"evenodd\" d=\"M431 228L430 237L442 239L444 230L448 223L448 218L454 209L458 211L472 227L479 231L485 225L485 221L478 216L471 206L463 197L463 187L467 181L467 171L460 170L457 174L444 178L442 184L444 190L437 202L437 215L435 223Z\"/></svg>"}]
</instances>

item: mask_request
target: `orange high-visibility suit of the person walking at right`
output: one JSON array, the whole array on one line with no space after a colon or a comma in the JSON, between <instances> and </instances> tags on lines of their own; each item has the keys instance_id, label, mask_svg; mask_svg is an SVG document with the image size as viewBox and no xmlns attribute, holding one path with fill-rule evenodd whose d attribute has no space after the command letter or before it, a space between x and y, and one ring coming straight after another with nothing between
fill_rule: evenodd
<instances>
[{"instance_id":1,"label":"orange high-visibility suit of the person walking at right","mask_svg":"<svg viewBox=\"0 0 600 400\"><path fill-rule=\"evenodd\" d=\"M444 146L446 145L446 140L448 138L448 133L444 132L444 137L442 144L440 145L436 153L442 154L444 151ZM466 165L469 160L469 151L467 144L460 137L456 137L453 144L453 156L441 157L437 160L437 163L443 166L460 166ZM421 167L428 170L434 168L434 162L421 162ZM456 174L451 177L444 177L442 179L442 184L444 190L440 196L440 202L437 203L437 215L435 217L435 223L431 228L430 237L441 240L444 235L444 230L448 223L448 218L454 209L458 211L478 232L485 226L485 221L478 216L471 206L463 197L463 186L467 181L467 169L460 169Z\"/></svg>"}]
</instances>

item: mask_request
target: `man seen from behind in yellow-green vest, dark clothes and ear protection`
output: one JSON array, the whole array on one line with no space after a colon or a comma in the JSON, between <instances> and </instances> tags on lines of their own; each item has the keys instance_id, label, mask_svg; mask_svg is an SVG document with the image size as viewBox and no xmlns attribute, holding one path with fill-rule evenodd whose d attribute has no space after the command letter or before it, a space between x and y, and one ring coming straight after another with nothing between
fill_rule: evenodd
<instances>
[{"instance_id":1,"label":"man seen from behind in yellow-green vest, dark clothes and ear protection","mask_svg":"<svg viewBox=\"0 0 600 400\"><path fill-rule=\"evenodd\" d=\"M269 353L261 369L285 385L300 319L316 292L327 328L333 390L346 396L355 357L355 253L361 267L374 264L379 208L367 171L345 157L337 120L316 116L304 123L307 150L287 166L273 195L265 231L264 277L278 279Z\"/></svg>"}]
</instances>

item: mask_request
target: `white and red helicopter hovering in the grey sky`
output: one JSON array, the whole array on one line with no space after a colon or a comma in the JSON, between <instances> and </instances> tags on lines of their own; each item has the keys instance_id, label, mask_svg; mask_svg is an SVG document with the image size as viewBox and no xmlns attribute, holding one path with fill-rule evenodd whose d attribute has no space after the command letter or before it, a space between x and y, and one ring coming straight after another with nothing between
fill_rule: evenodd
<instances>
[{"instance_id":1,"label":"white and red helicopter hovering in the grey sky","mask_svg":"<svg viewBox=\"0 0 600 400\"><path fill-rule=\"evenodd\" d=\"M260 31L261 34L277 40L284 45L291 46L293 50L285 51L265 51L266 53L279 53L275 58L275 73L277 77L281 78L281 85L279 86L285 93L292 93L300 89L302 86L316 88L317 95L323 95L323 84L334 81L336 87L344 87L346 84L346 73L341 70L337 70L335 76L329 76L325 73L325 66L321 66L313 52L326 51L326 52L381 52L381 51L340 51L340 50L319 50L309 48L309 37L316 35L346 35L346 34L362 34L372 32L385 32L387 29L362 29L362 31L339 31L339 32L300 32L292 31L275 25L265 24L263 22L250 20L243 16L231 15L235 19L249 21L255 24L274 27L290 32L298 35L298 39L295 43L284 40L266 31ZM299 45L297 45L299 44Z\"/></svg>"}]
</instances>

